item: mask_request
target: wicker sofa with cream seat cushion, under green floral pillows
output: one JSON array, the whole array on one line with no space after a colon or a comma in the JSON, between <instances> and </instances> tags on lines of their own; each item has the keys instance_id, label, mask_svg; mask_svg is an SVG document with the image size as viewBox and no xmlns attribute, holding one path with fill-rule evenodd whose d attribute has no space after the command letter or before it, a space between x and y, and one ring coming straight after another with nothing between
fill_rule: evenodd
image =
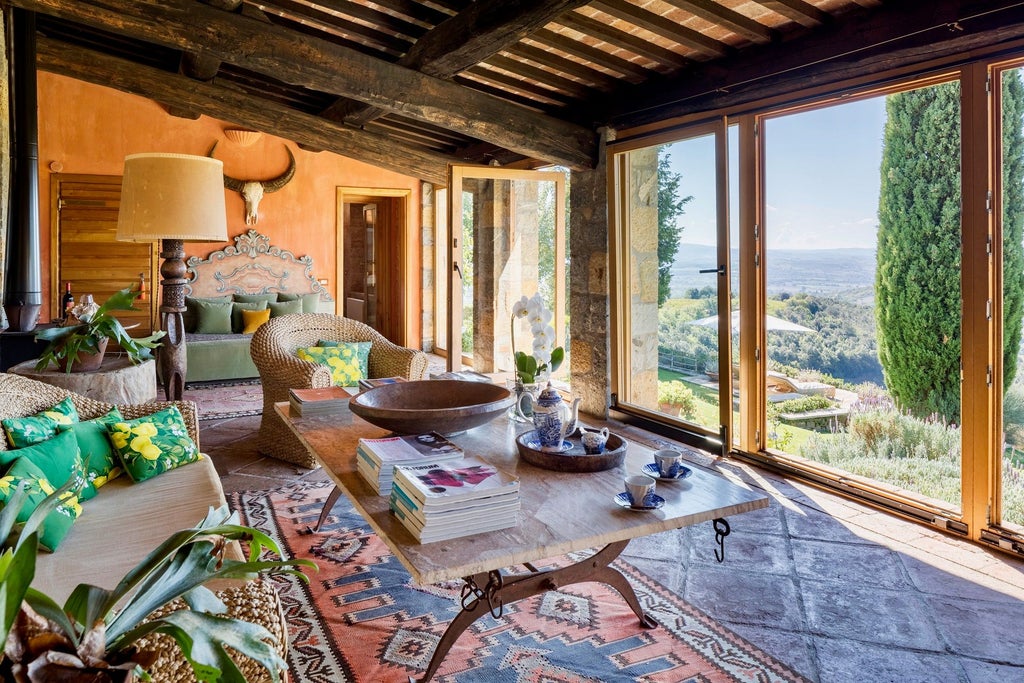
<instances>
[{"instance_id":1,"label":"wicker sofa with cream seat cushion, under green floral pillows","mask_svg":"<svg viewBox=\"0 0 1024 683\"><path fill-rule=\"evenodd\" d=\"M24 418L46 411L71 398L81 421L105 415L114 404L30 380L0 373L0 419ZM200 445L196 404L172 401L118 405L126 420L152 415L175 405L188 435ZM6 434L0 451L10 451ZM220 478L208 457L133 483L127 474L112 478L97 495L82 503L82 512L52 553L40 551L33 587L62 604L81 583L114 588L158 544L174 531L195 526L209 508L225 504ZM228 553L244 559L233 544ZM284 656L288 645L280 599L273 588L262 581L230 582L217 590L229 611L265 626L274 636ZM177 646L165 636L156 637L160 659L151 669L155 680L194 681ZM164 639L164 640L161 640ZM269 680L266 671L252 661L240 663L250 681Z\"/></svg>"}]
</instances>

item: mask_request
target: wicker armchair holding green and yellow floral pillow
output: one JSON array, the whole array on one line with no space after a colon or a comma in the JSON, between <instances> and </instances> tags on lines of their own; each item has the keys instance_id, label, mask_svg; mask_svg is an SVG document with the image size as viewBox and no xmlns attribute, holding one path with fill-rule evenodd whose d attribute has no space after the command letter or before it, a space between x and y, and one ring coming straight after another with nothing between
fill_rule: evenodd
<instances>
[{"instance_id":1,"label":"wicker armchair holding green and yellow floral pillow","mask_svg":"<svg viewBox=\"0 0 1024 683\"><path fill-rule=\"evenodd\" d=\"M303 360L296 350L329 341L369 341L370 377L404 377L420 380L427 375L427 354L388 341L369 325L331 313L293 313L275 317L253 335L249 351L263 384L263 420L257 449L260 453L312 468L312 454L273 412L273 404L288 400L288 390L331 386L326 366Z\"/></svg>"}]
</instances>

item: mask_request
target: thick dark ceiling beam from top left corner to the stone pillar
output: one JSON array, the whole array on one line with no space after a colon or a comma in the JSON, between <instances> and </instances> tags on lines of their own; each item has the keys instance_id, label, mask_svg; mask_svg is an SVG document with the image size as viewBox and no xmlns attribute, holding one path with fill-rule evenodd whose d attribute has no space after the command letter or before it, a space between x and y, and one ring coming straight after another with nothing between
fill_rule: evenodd
<instances>
[{"instance_id":1,"label":"thick dark ceiling beam from top left corner to the stone pillar","mask_svg":"<svg viewBox=\"0 0 1024 683\"><path fill-rule=\"evenodd\" d=\"M282 31L201 3L8 2L160 45L206 49L224 61L294 85L359 99L571 169L593 168L596 164L597 134L590 128L530 112L327 40Z\"/></svg>"}]
</instances>

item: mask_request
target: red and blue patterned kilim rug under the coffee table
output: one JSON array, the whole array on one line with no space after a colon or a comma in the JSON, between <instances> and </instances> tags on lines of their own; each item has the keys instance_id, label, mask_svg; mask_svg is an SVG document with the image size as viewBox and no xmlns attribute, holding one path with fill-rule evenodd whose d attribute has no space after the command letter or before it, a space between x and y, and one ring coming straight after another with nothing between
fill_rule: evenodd
<instances>
[{"instance_id":1,"label":"red and blue patterned kilim rug under the coffee table","mask_svg":"<svg viewBox=\"0 0 1024 683\"><path fill-rule=\"evenodd\" d=\"M280 579L290 633L293 683L408 681L426 669L459 611L461 584L416 587L399 562L348 505L316 522L330 486L298 483L233 494L246 523L291 556L312 559L308 585ZM561 558L561 561L566 561ZM512 605L460 636L435 675L438 683L515 681L805 681L618 560L644 609L660 625L639 627L612 589L589 583Z\"/></svg>"}]
</instances>

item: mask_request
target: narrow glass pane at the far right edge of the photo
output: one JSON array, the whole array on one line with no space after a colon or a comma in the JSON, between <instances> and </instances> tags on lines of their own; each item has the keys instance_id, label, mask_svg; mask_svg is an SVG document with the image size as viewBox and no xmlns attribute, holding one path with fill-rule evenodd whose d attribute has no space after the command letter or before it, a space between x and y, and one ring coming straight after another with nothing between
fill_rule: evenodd
<instances>
[{"instance_id":1,"label":"narrow glass pane at the far right edge of the photo","mask_svg":"<svg viewBox=\"0 0 1024 683\"><path fill-rule=\"evenodd\" d=\"M1000 75L1002 216L1002 523L1024 531L1024 86L1022 70Z\"/></svg>"}]
</instances>

